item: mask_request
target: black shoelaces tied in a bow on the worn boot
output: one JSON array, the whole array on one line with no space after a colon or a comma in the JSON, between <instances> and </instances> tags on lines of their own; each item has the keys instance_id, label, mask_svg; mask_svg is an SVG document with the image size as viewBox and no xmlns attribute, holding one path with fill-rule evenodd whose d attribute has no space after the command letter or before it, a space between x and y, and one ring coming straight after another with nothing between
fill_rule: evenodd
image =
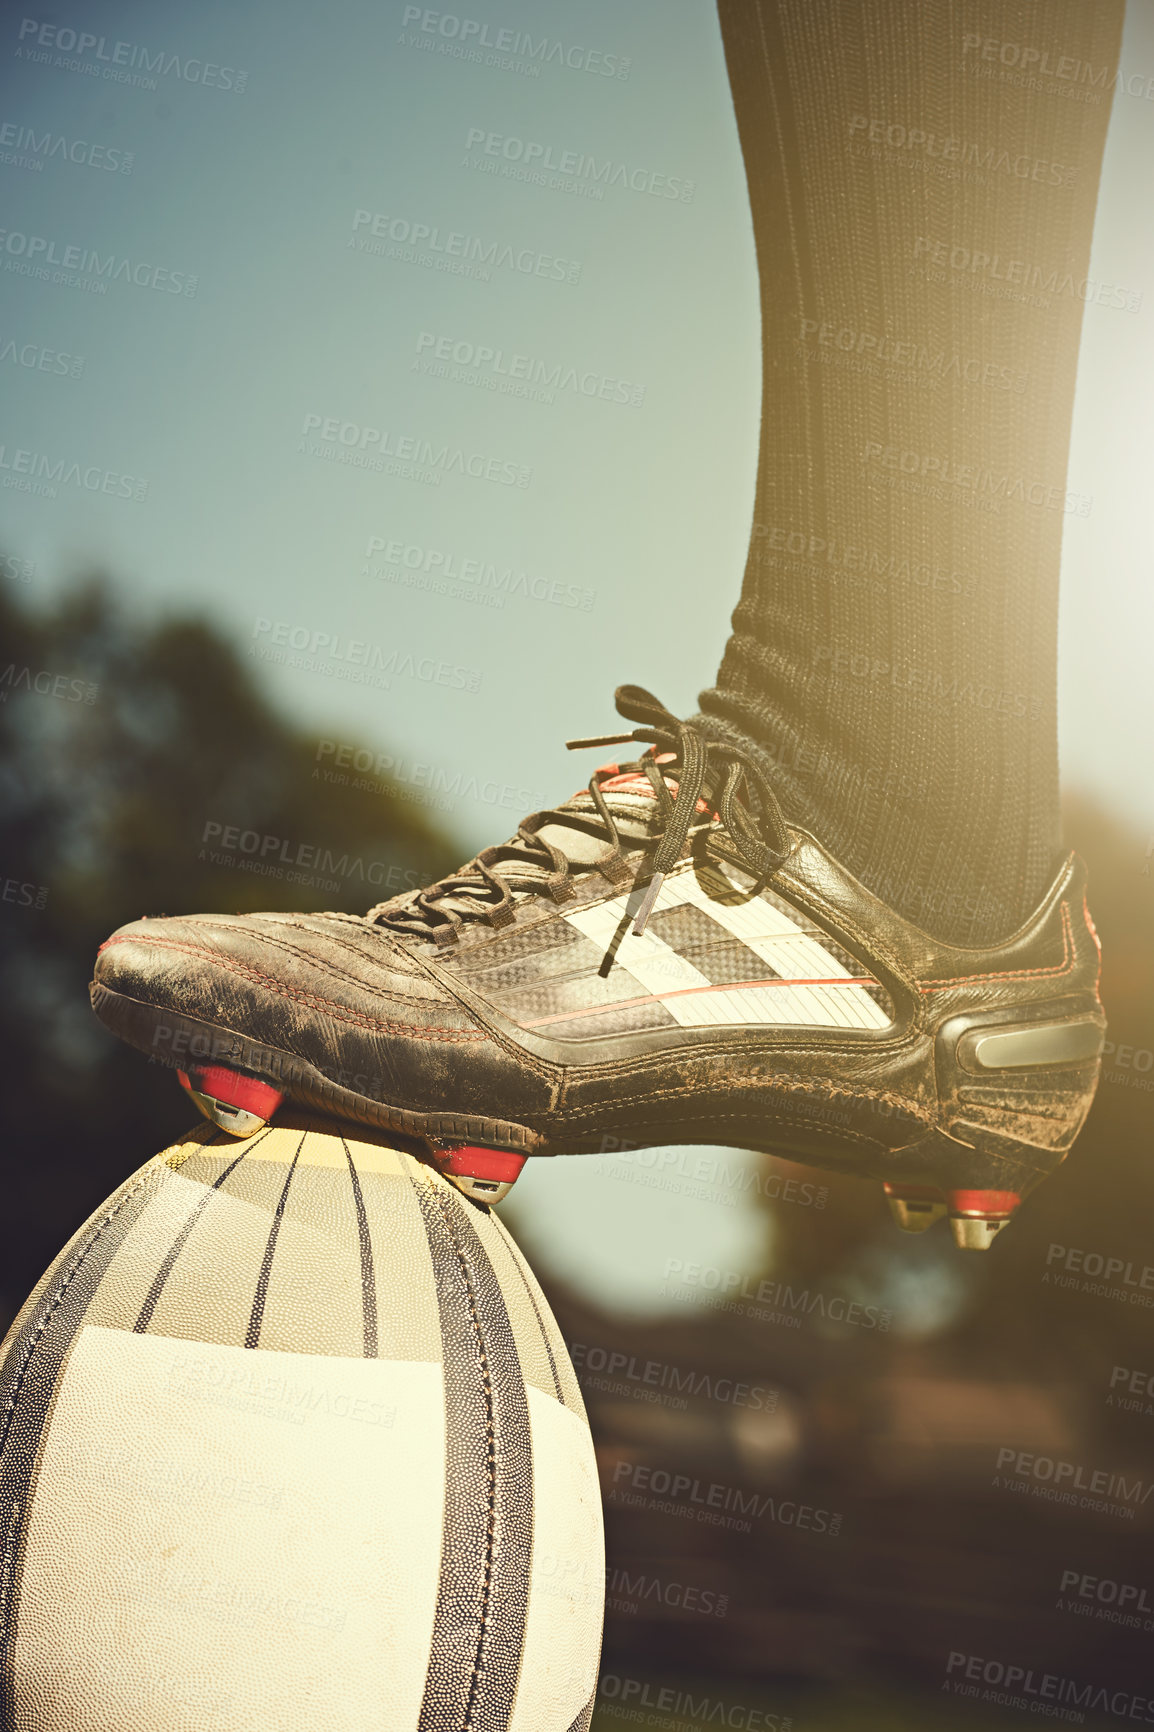
<instances>
[{"instance_id":1,"label":"black shoelaces tied in a bow on the worn boot","mask_svg":"<svg viewBox=\"0 0 1154 1732\"><path fill-rule=\"evenodd\" d=\"M652 750L632 764L598 769L589 778L589 798L596 812L580 814L572 807L553 807L525 818L509 842L482 849L471 861L449 878L440 878L426 890L402 902L381 902L369 909L369 920L393 932L452 944L468 920L483 920L490 927L508 927L516 918L515 892L528 890L549 895L554 902L572 899L575 869L598 871L610 883L624 883L632 876L626 861L617 821L610 812L601 783L615 776L641 774L657 798L660 837L653 850L648 883L638 906L632 930L641 934L653 911L665 875L684 856L690 830L698 816L697 807L707 785L717 818L724 824L733 849L759 883L764 883L790 850L788 831L773 788L752 755L736 745L709 740L693 722L679 721L665 705L641 686L617 688L617 712L639 726L626 734L598 734L591 740L570 740L570 750L586 746L612 746L626 741L646 743ZM671 755L671 757L667 757ZM665 757L665 762L658 762ZM671 793L669 783L676 785ZM587 863L575 866L541 831L549 824L570 826L586 833L608 837L608 847ZM634 843L639 847L645 843ZM646 847L648 852L648 847ZM636 878L645 883L645 864Z\"/></svg>"}]
</instances>

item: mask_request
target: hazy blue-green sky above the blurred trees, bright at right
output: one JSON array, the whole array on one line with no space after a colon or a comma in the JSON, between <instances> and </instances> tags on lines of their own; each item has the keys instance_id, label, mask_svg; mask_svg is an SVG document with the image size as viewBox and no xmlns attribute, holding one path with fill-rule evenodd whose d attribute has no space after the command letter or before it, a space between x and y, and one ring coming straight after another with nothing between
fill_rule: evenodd
<instances>
[{"instance_id":1,"label":"hazy blue-green sky above the blurred trees, bright at right","mask_svg":"<svg viewBox=\"0 0 1154 1732\"><path fill-rule=\"evenodd\" d=\"M693 708L761 405L712 7L470 7L0 24L5 578L47 599L100 566L140 613L210 617L319 746L431 783L463 852L584 781L563 741L615 726L617 684ZM1085 315L1060 738L1067 785L1154 833L1154 0L1128 9L1123 73L1092 275L1142 305ZM35 481L61 459L76 480ZM641 1308L671 1245L764 1244L733 1188L658 1207L636 1173L567 1162L520 1190L527 1242Z\"/></svg>"}]
</instances>

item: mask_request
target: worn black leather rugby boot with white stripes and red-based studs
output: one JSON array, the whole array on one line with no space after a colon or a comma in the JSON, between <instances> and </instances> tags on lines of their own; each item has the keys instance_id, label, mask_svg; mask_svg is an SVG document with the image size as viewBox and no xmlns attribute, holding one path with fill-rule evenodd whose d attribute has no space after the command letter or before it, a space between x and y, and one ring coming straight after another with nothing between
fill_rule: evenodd
<instances>
[{"instance_id":1,"label":"worn black leather rugby boot with white stripes and red-based studs","mask_svg":"<svg viewBox=\"0 0 1154 1732\"><path fill-rule=\"evenodd\" d=\"M527 1155L728 1143L885 1183L984 1249L1090 1108L1104 1017L1076 856L1005 942L920 932L754 760L634 686L648 745L366 916L140 920L92 1003L225 1129L282 1096L418 1140L477 1200Z\"/></svg>"}]
</instances>

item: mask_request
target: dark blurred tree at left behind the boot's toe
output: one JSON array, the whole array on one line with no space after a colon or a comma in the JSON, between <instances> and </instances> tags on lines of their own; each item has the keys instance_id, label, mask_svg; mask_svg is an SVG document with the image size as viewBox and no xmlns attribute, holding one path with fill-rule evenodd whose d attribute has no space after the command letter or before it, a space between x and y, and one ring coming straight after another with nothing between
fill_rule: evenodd
<instances>
[{"instance_id":1,"label":"dark blurred tree at left behind the boot's toe","mask_svg":"<svg viewBox=\"0 0 1154 1732\"><path fill-rule=\"evenodd\" d=\"M0 598L0 1313L10 1313L85 1214L192 1117L172 1072L107 1036L88 1008L107 934L158 913L364 911L459 856L390 783L326 779L317 741L194 617L140 622L107 582L88 580L40 615ZM206 843L217 824L217 838L248 831L253 852ZM284 859L315 849L303 859L321 869L289 876L263 838L284 840Z\"/></svg>"}]
</instances>

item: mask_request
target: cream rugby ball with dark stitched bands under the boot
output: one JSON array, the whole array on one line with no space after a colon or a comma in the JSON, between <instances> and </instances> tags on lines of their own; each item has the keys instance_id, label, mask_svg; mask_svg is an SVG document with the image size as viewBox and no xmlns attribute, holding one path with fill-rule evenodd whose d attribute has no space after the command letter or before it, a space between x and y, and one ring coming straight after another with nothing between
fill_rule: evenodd
<instances>
[{"instance_id":1,"label":"cream rugby ball with dark stitched bands under the boot","mask_svg":"<svg viewBox=\"0 0 1154 1732\"><path fill-rule=\"evenodd\" d=\"M0 1349L3 1725L584 1732L605 1552L565 1344L373 1131L201 1126Z\"/></svg>"}]
</instances>

